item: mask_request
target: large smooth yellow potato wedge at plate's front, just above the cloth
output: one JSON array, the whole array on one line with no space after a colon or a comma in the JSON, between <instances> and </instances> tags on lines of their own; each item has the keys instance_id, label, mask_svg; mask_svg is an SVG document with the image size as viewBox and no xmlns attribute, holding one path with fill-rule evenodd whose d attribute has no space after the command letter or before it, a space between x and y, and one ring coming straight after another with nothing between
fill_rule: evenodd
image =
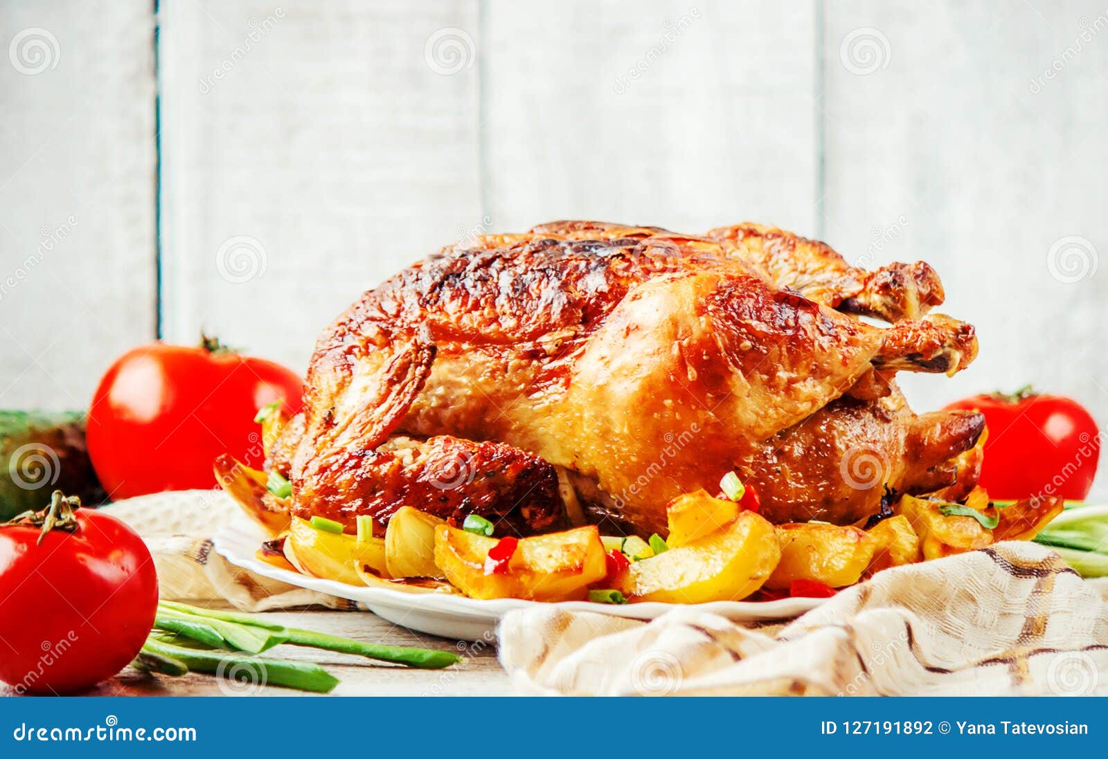
<instances>
[{"instance_id":1,"label":"large smooth yellow potato wedge at plate's front, just above the cloth","mask_svg":"<svg viewBox=\"0 0 1108 759\"><path fill-rule=\"evenodd\" d=\"M615 584L633 601L739 601L762 586L780 557L773 526L741 511L706 538L636 561Z\"/></svg>"}]
</instances>

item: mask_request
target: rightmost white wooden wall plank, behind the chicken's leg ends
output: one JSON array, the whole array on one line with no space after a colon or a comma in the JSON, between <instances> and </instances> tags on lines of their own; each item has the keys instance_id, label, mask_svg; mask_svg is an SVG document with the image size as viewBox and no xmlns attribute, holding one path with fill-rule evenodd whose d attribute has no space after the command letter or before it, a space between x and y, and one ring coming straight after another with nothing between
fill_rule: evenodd
<instances>
[{"instance_id":1,"label":"rightmost white wooden wall plank, behind the chicken's leg ends","mask_svg":"<svg viewBox=\"0 0 1108 759\"><path fill-rule=\"evenodd\" d=\"M1108 423L1106 13L1094 0L827 6L821 233L848 258L931 262L943 310L981 339L954 380L902 375L916 407L1033 382Z\"/></svg>"}]
</instances>

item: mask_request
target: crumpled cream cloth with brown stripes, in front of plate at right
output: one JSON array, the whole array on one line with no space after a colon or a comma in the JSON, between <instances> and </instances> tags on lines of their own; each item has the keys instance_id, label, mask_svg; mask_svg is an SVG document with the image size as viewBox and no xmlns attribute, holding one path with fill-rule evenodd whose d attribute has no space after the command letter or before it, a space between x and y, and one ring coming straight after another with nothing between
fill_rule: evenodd
<instances>
[{"instance_id":1,"label":"crumpled cream cloth with brown stripes, in front of plate at right","mask_svg":"<svg viewBox=\"0 0 1108 759\"><path fill-rule=\"evenodd\" d=\"M512 612L500 658L544 695L1108 695L1108 583L1007 542L886 570L788 623Z\"/></svg>"}]
</instances>

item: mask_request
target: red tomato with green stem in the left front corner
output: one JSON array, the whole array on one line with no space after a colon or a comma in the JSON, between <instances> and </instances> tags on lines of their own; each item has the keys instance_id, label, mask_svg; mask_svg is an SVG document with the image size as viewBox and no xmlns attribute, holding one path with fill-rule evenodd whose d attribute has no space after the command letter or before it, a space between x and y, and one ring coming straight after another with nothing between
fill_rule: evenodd
<instances>
[{"instance_id":1,"label":"red tomato with green stem in the left front corner","mask_svg":"<svg viewBox=\"0 0 1108 759\"><path fill-rule=\"evenodd\" d=\"M19 693L107 679L154 624L157 574L146 544L114 517L66 506L59 513L72 532L42 534L41 519L0 526L0 680Z\"/></svg>"}]
</instances>

